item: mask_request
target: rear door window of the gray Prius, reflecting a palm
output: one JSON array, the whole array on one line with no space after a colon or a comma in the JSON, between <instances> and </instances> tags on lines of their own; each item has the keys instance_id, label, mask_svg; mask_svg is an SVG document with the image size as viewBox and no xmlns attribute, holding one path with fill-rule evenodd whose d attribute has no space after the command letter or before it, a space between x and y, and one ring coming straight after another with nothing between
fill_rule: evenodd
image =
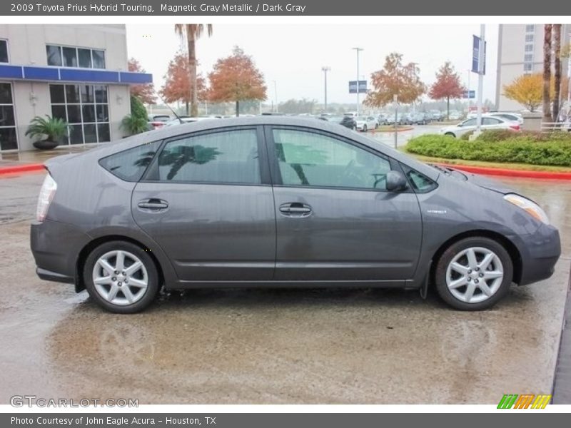
<instances>
[{"instance_id":1,"label":"rear door window of the gray Prius, reflecting a palm","mask_svg":"<svg viewBox=\"0 0 571 428\"><path fill-rule=\"evenodd\" d=\"M158 179L260 184L256 130L221 131L168 141L158 157Z\"/></svg>"}]
</instances>

